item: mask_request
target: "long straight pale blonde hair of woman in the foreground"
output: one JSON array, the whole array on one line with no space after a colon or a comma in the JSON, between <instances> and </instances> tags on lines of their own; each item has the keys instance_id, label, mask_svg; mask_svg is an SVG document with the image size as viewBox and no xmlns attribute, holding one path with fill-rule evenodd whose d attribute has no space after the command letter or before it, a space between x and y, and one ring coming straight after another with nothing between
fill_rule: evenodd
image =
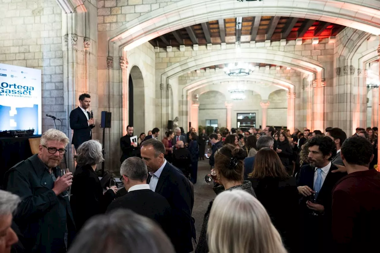
<instances>
[{"instance_id":1,"label":"long straight pale blonde hair of woman in the foreground","mask_svg":"<svg viewBox=\"0 0 380 253\"><path fill-rule=\"evenodd\" d=\"M220 193L207 226L210 253L286 253L268 213L246 191Z\"/></svg>"}]
</instances>

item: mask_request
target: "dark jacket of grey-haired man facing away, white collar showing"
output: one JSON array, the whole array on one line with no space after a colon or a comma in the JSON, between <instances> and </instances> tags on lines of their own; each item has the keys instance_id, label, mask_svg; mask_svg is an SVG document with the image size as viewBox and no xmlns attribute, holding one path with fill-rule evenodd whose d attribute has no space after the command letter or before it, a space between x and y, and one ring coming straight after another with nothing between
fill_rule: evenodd
<instances>
[{"instance_id":1,"label":"dark jacket of grey-haired man facing away, white collar showing","mask_svg":"<svg viewBox=\"0 0 380 253\"><path fill-rule=\"evenodd\" d=\"M139 215L155 220L173 241L174 224L171 218L171 207L165 197L149 189L130 191L112 201L107 213L119 208L130 209Z\"/></svg>"}]
</instances>

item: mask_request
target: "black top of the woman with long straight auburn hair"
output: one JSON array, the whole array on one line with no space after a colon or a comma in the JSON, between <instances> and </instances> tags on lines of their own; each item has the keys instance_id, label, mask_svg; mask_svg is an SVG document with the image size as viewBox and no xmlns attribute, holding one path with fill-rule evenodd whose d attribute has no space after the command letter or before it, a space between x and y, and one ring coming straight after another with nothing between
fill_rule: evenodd
<instances>
[{"instance_id":1,"label":"black top of the woman with long straight auburn hair","mask_svg":"<svg viewBox=\"0 0 380 253\"><path fill-rule=\"evenodd\" d=\"M297 252L298 190L296 179L249 178L256 198L263 204L289 252ZM286 208L279 208L286 207Z\"/></svg>"}]
</instances>

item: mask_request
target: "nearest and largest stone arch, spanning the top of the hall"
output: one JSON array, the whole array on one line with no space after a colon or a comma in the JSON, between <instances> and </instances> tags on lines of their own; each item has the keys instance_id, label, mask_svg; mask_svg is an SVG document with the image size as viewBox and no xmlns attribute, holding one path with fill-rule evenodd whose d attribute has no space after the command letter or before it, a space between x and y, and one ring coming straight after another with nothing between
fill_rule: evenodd
<instances>
[{"instance_id":1,"label":"nearest and largest stone arch, spanning the top of the hall","mask_svg":"<svg viewBox=\"0 0 380 253\"><path fill-rule=\"evenodd\" d=\"M212 6L212 10L210 9ZM231 8L230 0L182 0L156 9L128 22L111 32L109 38L113 43L125 47L128 51L152 38L180 28L202 22L213 21L232 16L291 16L308 17L320 21L332 22L355 29L360 29L375 35L380 34L380 3L370 0L351 0L340 2L336 0L294 0L276 2L234 2ZM281 10L276 11L276 10Z\"/></svg>"}]
</instances>

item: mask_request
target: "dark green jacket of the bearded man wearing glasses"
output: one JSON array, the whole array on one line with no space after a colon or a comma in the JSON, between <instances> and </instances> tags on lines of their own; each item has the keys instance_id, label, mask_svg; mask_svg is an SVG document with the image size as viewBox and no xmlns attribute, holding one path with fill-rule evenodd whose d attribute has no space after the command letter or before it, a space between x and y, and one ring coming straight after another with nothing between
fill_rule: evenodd
<instances>
[{"instance_id":1,"label":"dark green jacket of the bearded man wearing glasses","mask_svg":"<svg viewBox=\"0 0 380 253\"><path fill-rule=\"evenodd\" d=\"M58 170L53 168L56 177ZM22 199L14 221L24 236L25 252L66 252L65 232L68 231L68 245L75 235L69 199L63 197L67 192L55 195L54 181L37 155L9 169L4 185Z\"/></svg>"}]
</instances>

